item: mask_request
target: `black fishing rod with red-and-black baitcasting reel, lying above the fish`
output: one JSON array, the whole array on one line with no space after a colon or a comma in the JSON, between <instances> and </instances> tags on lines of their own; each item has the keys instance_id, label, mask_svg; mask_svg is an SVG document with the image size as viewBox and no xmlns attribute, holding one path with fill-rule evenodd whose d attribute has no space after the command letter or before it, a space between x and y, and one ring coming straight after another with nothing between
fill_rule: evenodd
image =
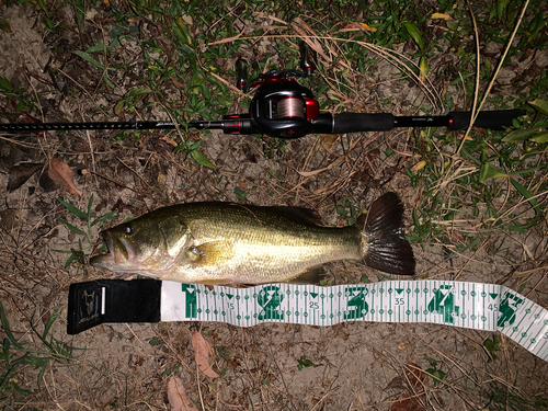
<instances>
[{"instance_id":1,"label":"black fishing rod with red-and-black baitcasting reel, lying above the fish","mask_svg":"<svg viewBox=\"0 0 548 411\"><path fill-rule=\"evenodd\" d=\"M296 78L308 78L316 67L311 62L306 43L300 44L301 70L271 70L247 81L244 60L236 62L237 87L243 92L256 88L247 114L227 114L218 121L172 122L90 122L90 123L8 123L0 124L0 132L48 132L90 129L221 129L225 134L263 134L278 138L299 138L307 134L344 134L359 132L386 132L396 127L446 127L449 130L466 129L470 112L449 112L442 116L395 116L390 113L320 113L320 104L313 93L299 84ZM502 130L525 111L498 110L480 112L473 125L480 128Z\"/></svg>"}]
</instances>

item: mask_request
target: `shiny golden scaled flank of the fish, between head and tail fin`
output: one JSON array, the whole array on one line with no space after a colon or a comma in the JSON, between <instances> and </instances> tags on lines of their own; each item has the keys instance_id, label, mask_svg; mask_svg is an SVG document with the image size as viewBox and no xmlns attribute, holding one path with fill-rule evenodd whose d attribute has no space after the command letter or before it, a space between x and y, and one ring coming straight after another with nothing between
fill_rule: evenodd
<instances>
[{"instance_id":1,"label":"shiny golden scaled flank of the fish, between head and tail fin","mask_svg":"<svg viewBox=\"0 0 548 411\"><path fill-rule=\"evenodd\" d=\"M227 278L244 284L254 284L258 278L264 283L281 282L311 266L361 259L361 233L355 227L318 227L275 207L219 208L214 203L186 207L184 212L191 208L186 221L195 246L217 243L222 251L232 252L229 259L222 254L198 264L192 282L207 278L219 283ZM199 218L201 215L207 218Z\"/></svg>"}]
</instances>

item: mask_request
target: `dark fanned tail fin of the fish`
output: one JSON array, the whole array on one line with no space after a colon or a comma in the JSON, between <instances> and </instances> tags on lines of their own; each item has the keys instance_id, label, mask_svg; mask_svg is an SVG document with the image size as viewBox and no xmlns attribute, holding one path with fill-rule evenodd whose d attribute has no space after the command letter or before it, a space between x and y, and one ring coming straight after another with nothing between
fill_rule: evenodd
<instances>
[{"instance_id":1,"label":"dark fanned tail fin of the fish","mask_svg":"<svg viewBox=\"0 0 548 411\"><path fill-rule=\"evenodd\" d=\"M414 274L413 250L403 237L403 205L396 193L386 193L372 204L363 242L363 259L370 267L390 274Z\"/></svg>"}]
</instances>

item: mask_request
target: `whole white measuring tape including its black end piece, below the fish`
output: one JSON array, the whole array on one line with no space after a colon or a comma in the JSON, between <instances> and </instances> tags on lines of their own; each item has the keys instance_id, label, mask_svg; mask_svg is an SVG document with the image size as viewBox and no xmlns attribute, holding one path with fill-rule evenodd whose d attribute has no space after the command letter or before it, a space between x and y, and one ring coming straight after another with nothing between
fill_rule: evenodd
<instances>
[{"instance_id":1,"label":"whole white measuring tape including its black end piece, below the fish","mask_svg":"<svg viewBox=\"0 0 548 411\"><path fill-rule=\"evenodd\" d=\"M157 321L220 321L239 327L261 322L437 323L500 331L548 361L548 310L494 284L426 279L208 289L155 279L105 279L70 286L68 333L102 322Z\"/></svg>"}]
</instances>

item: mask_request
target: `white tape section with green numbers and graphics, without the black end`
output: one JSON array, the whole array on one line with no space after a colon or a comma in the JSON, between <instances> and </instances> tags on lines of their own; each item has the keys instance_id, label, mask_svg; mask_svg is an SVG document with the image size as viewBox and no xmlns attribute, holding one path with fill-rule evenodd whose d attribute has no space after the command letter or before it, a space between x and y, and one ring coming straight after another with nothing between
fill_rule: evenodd
<instances>
[{"instance_id":1,"label":"white tape section with green numbers and graphics, without the black end","mask_svg":"<svg viewBox=\"0 0 548 411\"><path fill-rule=\"evenodd\" d=\"M548 361L548 310L500 285L445 281L267 284L251 288L162 283L162 321L333 326L342 321L427 322L500 331Z\"/></svg>"}]
</instances>

